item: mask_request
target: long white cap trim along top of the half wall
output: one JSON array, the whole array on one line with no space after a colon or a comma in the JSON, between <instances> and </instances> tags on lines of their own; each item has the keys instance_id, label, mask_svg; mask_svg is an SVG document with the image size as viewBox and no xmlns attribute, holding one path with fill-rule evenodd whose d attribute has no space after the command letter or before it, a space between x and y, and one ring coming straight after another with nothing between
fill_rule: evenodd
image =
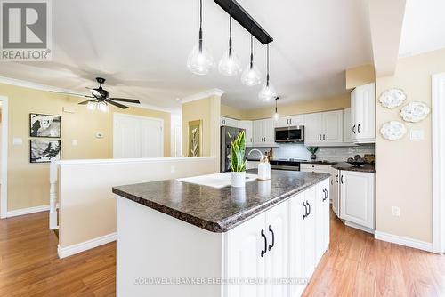
<instances>
[{"instance_id":1,"label":"long white cap trim along top of the half wall","mask_svg":"<svg viewBox=\"0 0 445 297\"><path fill-rule=\"evenodd\" d=\"M84 159L84 160L61 160L58 165L61 167L70 165L101 165L101 164L133 164L133 163L163 163L163 162L183 162L201 161L214 159L216 157L142 157L128 159Z\"/></svg>"}]
</instances>

